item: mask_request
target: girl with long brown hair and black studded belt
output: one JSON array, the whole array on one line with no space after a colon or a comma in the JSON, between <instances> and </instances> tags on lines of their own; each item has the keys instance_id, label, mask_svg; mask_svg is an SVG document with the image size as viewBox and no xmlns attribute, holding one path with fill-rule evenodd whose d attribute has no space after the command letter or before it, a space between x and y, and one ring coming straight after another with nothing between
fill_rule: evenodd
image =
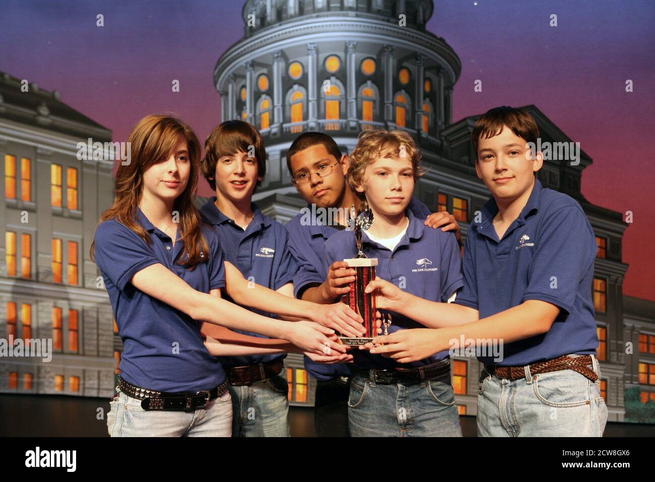
<instances>
[{"instance_id":1,"label":"girl with long brown hair and black studded belt","mask_svg":"<svg viewBox=\"0 0 655 482\"><path fill-rule=\"evenodd\" d=\"M200 144L188 125L148 115L128 142L131 159L119 166L113 205L91 247L124 346L107 428L112 436L229 436L225 372L203 344L202 321L271 337L225 329L215 342L221 355L304 351L327 362L348 355L317 323L269 319L220 297L225 267L193 204ZM258 289L255 304L271 303L276 293L268 291ZM280 314L307 319L309 306L290 301Z\"/></svg>"}]
</instances>

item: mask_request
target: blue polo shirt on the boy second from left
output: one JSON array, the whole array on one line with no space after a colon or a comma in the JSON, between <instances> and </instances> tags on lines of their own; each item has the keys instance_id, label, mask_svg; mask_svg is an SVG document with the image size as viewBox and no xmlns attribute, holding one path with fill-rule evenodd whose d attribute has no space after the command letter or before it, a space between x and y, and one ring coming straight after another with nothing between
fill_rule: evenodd
<instances>
[{"instance_id":1,"label":"blue polo shirt on the boy second from left","mask_svg":"<svg viewBox=\"0 0 655 482\"><path fill-rule=\"evenodd\" d=\"M288 233L282 224L261 213L252 203L254 217L246 230L238 226L214 204L216 197L210 198L200 209L200 214L208 222L219 239L223 259L231 262L241 271L244 278L272 290L278 290L293 281L296 271L295 260L288 247ZM229 299L229 298L228 298ZM276 315L245 306L244 308L260 315L276 318ZM234 330L259 338L267 336L248 331ZM221 357L224 367L254 365L280 360L286 354L250 355L240 357Z\"/></svg>"}]
</instances>

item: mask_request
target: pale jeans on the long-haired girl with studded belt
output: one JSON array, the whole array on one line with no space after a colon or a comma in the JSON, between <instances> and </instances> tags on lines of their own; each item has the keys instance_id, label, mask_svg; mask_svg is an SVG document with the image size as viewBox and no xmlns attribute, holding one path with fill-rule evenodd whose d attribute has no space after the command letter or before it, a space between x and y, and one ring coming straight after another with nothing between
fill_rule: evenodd
<instances>
[{"instance_id":1,"label":"pale jeans on the long-haired girl with studded belt","mask_svg":"<svg viewBox=\"0 0 655 482\"><path fill-rule=\"evenodd\" d=\"M111 437L229 437L232 432L230 393L193 412L144 410L141 400L121 392L109 403Z\"/></svg>"}]
</instances>

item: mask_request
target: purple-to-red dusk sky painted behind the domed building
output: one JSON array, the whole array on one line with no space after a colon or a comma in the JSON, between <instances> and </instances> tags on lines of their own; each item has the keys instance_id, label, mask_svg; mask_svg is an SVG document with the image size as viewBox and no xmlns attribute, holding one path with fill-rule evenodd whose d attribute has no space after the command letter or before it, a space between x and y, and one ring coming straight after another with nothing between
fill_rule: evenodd
<instances>
[{"instance_id":1,"label":"purple-to-red dusk sky painted behind the domed building","mask_svg":"<svg viewBox=\"0 0 655 482\"><path fill-rule=\"evenodd\" d=\"M219 121L212 73L243 35L243 1L3 1L0 70L61 92L126 140L144 115L172 111L201 141ZM96 15L104 26L96 26ZM557 15L557 27L550 15ZM453 119L534 104L593 159L582 192L633 212L624 292L655 300L655 3L434 2L428 30L462 61ZM179 79L180 92L172 92ZM474 81L482 92L474 92ZM626 80L634 92L626 92ZM210 190L202 180L200 194Z\"/></svg>"}]
</instances>

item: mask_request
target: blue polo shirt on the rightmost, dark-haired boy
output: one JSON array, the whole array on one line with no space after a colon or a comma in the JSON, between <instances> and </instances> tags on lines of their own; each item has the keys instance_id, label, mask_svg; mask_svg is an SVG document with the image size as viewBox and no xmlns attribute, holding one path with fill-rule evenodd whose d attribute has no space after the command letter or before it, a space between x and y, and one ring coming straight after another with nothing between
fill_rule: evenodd
<instances>
[{"instance_id":1,"label":"blue polo shirt on the rightmost, dark-haired boy","mask_svg":"<svg viewBox=\"0 0 655 482\"><path fill-rule=\"evenodd\" d=\"M560 311L547 333L504 345L502 361L493 356L479 361L529 365L570 353L595 353L591 285L598 247L580 204L535 180L525 207L502 239L493 226L497 212L492 197L481 210L481 222L470 225L462 265L464 289L455 303L479 310L480 318L526 300L552 303Z\"/></svg>"}]
</instances>

